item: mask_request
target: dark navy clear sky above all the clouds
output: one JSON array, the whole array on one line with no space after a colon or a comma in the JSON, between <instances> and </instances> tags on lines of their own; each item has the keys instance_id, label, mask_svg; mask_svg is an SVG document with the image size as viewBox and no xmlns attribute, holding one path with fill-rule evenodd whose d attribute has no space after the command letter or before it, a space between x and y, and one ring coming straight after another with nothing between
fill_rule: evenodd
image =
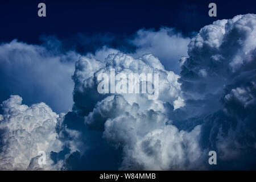
<instances>
[{"instance_id":1,"label":"dark navy clear sky above all the clouds","mask_svg":"<svg viewBox=\"0 0 256 182\"><path fill-rule=\"evenodd\" d=\"M47 6L39 18L38 3ZM208 16L210 2L217 4L217 18ZM82 33L111 32L131 35L140 28L176 27L188 34L216 19L256 13L255 1L7 1L0 4L0 41L18 39L40 43L40 35L63 40Z\"/></svg>"}]
</instances>

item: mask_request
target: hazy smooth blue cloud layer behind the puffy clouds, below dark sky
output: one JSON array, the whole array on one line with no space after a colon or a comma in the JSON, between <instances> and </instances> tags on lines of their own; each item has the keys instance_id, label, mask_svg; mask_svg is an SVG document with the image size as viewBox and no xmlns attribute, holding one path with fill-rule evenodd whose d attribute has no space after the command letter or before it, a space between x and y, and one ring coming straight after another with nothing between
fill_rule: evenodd
<instances>
[{"instance_id":1,"label":"hazy smooth blue cloud layer behind the puffy clouds, below dark sky","mask_svg":"<svg viewBox=\"0 0 256 182\"><path fill-rule=\"evenodd\" d=\"M44 43L41 46L17 40L2 43L0 101L6 100L10 94L18 94L26 104L46 102L59 113L67 112L73 104L74 84L71 76L75 71L75 62L81 55L104 62L109 54L118 53L123 49L119 44L125 44L125 47L133 47L125 49L130 55L139 57L152 53L162 59L168 70L177 73L177 60L180 56L187 55L189 41L170 28L162 28L159 31L139 30L132 38L106 34L93 38L79 35L73 39L58 40L48 36L43 38ZM81 43L82 51L77 48L72 51L77 42ZM118 47L114 46L117 42ZM93 51L89 48L92 44Z\"/></svg>"}]
</instances>

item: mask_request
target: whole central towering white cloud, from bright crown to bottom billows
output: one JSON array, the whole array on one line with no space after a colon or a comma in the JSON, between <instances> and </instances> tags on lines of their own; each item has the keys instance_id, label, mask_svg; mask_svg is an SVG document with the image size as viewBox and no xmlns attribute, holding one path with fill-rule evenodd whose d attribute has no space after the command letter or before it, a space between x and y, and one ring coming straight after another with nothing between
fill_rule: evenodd
<instances>
[{"instance_id":1,"label":"whole central towering white cloud, from bright crown to bottom billows","mask_svg":"<svg viewBox=\"0 0 256 182\"><path fill-rule=\"evenodd\" d=\"M97 76L109 74L112 68L116 74L159 73L158 99L148 100L146 94L99 94ZM85 126L77 130L75 125L80 126L81 123L71 126L71 121L64 118L58 123L57 130L67 146L79 140L72 137L77 131L80 136L87 137L83 139L84 146L90 143L88 140L95 140L93 135L86 136L85 131L102 135L110 146L122 151L119 169L193 169L193 162L197 160L201 164L203 159L198 142L200 126L187 133L179 131L170 119L174 105L178 108L183 102L178 78L174 72L166 71L153 55L134 59L119 52L110 54L105 63L82 57L76 63L73 76L73 114L68 115L83 118ZM157 165L152 166L154 163Z\"/></svg>"}]
</instances>

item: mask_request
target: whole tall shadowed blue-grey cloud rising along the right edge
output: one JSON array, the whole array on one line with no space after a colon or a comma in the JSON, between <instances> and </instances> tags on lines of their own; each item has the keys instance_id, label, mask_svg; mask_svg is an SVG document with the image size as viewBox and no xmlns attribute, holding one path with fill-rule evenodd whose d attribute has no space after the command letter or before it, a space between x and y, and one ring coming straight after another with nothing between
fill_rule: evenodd
<instances>
[{"instance_id":1,"label":"whole tall shadowed blue-grey cloud rising along the right edge","mask_svg":"<svg viewBox=\"0 0 256 182\"><path fill-rule=\"evenodd\" d=\"M255 53L256 15L237 15L202 28L181 67L177 117L201 114L201 147L217 151L222 169L255 168Z\"/></svg>"}]
</instances>

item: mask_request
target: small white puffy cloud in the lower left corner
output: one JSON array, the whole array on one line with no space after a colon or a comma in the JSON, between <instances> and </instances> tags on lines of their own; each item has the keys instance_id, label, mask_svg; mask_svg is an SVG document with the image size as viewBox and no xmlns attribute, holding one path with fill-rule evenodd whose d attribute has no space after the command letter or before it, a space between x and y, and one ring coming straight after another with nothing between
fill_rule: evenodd
<instances>
[{"instance_id":1,"label":"small white puffy cloud in the lower left corner","mask_svg":"<svg viewBox=\"0 0 256 182\"><path fill-rule=\"evenodd\" d=\"M55 164L49 155L51 151L59 152L62 147L55 132L59 115L44 103L30 107L22 105L19 96L11 96L1 107L0 169L26 170L28 166L32 169L60 169L61 162ZM39 166L38 160L34 165L31 163L31 159L39 158L39 151L47 152L47 165Z\"/></svg>"}]
</instances>

